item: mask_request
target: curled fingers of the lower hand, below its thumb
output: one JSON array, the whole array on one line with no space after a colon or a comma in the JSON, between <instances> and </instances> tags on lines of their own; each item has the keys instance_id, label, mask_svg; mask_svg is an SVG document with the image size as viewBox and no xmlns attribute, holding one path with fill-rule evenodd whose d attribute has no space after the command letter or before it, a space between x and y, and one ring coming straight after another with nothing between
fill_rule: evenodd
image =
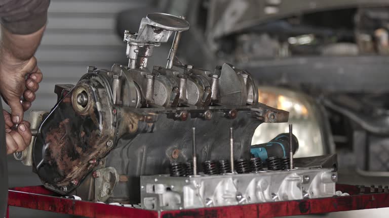
<instances>
[{"instance_id":1,"label":"curled fingers of the lower hand, below its thumb","mask_svg":"<svg viewBox=\"0 0 389 218\"><path fill-rule=\"evenodd\" d=\"M7 153L23 151L31 142L31 132L25 122L17 130L6 129Z\"/></svg>"}]
</instances>

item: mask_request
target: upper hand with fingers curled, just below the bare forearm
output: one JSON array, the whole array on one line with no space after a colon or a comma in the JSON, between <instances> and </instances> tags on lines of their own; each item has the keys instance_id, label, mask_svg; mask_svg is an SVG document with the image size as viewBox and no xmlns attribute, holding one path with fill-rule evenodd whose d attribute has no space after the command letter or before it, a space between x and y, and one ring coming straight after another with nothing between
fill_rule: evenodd
<instances>
[{"instance_id":1,"label":"upper hand with fingers curled, just below the bare forearm","mask_svg":"<svg viewBox=\"0 0 389 218\"><path fill-rule=\"evenodd\" d=\"M19 61L3 54L0 60L0 92L11 107L12 122L19 124L23 120L24 111L35 100L35 92L43 75L36 65L35 57ZM23 101L21 97L24 97Z\"/></svg>"}]
</instances>

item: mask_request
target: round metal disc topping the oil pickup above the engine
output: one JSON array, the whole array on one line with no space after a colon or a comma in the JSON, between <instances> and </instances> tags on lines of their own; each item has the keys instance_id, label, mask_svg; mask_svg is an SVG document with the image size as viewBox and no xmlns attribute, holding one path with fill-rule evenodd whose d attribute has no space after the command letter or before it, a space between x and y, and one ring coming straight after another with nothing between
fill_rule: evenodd
<instances>
[{"instance_id":1,"label":"round metal disc topping the oil pickup above the engine","mask_svg":"<svg viewBox=\"0 0 389 218\"><path fill-rule=\"evenodd\" d=\"M189 23L177 16L164 13L150 13L147 15L153 26L171 31L185 31L189 29Z\"/></svg>"}]
</instances>

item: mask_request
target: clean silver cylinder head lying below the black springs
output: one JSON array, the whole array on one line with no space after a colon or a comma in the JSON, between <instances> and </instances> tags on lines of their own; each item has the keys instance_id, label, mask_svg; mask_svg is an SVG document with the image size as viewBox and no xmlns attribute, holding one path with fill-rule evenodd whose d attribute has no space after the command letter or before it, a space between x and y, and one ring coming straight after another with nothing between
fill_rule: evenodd
<instances>
[{"instance_id":1,"label":"clean silver cylinder head lying below the black springs","mask_svg":"<svg viewBox=\"0 0 389 218\"><path fill-rule=\"evenodd\" d=\"M186 178L141 176L141 204L145 209L172 210L332 197L334 175L333 169L306 168Z\"/></svg>"}]
</instances>

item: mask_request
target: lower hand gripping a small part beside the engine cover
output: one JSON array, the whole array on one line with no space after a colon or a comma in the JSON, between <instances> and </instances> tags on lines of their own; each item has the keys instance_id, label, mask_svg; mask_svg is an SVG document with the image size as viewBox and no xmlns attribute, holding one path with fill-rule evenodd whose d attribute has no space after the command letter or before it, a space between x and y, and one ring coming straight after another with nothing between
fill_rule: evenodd
<instances>
[{"instance_id":1,"label":"lower hand gripping a small part beside the engine cover","mask_svg":"<svg viewBox=\"0 0 389 218\"><path fill-rule=\"evenodd\" d=\"M10 113L3 110L3 115L6 124L7 154L23 151L31 142L30 123L21 121L17 129L13 129L14 123Z\"/></svg>"}]
</instances>

